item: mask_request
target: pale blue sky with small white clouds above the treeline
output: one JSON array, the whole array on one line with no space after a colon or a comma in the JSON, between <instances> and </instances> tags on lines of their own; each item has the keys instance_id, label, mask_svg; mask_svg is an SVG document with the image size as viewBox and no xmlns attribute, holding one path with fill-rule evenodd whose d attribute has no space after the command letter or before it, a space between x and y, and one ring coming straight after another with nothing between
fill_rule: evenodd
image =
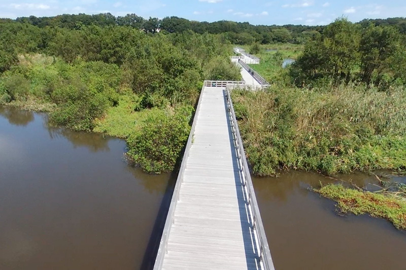
<instances>
[{"instance_id":1,"label":"pale blue sky with small white clouds above the treeline","mask_svg":"<svg viewBox=\"0 0 406 270\"><path fill-rule=\"evenodd\" d=\"M406 16L405 0L0 0L0 17L136 13L144 18L178 16L197 21L231 20L252 24L324 25L337 17Z\"/></svg>"}]
</instances>

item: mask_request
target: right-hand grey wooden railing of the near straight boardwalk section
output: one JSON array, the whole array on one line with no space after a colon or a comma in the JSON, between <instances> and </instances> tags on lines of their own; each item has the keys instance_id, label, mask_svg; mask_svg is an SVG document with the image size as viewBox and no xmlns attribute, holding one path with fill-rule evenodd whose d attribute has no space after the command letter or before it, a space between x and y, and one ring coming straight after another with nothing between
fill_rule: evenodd
<instances>
[{"instance_id":1,"label":"right-hand grey wooden railing of the near straight boardwalk section","mask_svg":"<svg viewBox=\"0 0 406 270\"><path fill-rule=\"evenodd\" d=\"M262 261L265 270L275 270L274 262L272 261L272 256L270 255L268 241L267 241L266 235L265 235L265 229L263 227L261 215L259 212L258 202L257 202L256 196L255 196L254 185L252 183L250 170L248 168L247 158L245 156L243 140L241 138L240 130L238 127L238 122L235 117L235 111L234 111L234 107L232 105L230 90L229 89L225 90L225 93L226 93L228 111L229 111L229 114L231 114L230 115L231 116L231 129L233 132L236 150L239 155L240 161L242 163L241 164L241 166L242 166L241 173L243 175L243 184L245 185L246 190L248 192L248 198L247 198L248 204L251 205L251 209L252 209L252 224L253 224L253 228L255 230L258 245L259 245L259 247L257 246L259 259L260 259L260 261Z\"/></svg>"}]
</instances>

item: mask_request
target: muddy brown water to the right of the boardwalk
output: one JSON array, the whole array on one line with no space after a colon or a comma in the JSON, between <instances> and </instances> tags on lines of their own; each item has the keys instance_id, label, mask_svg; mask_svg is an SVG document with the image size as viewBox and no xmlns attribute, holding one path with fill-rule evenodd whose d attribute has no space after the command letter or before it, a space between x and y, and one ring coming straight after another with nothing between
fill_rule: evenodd
<instances>
[{"instance_id":1,"label":"muddy brown water to the right of the boardwalk","mask_svg":"<svg viewBox=\"0 0 406 270\"><path fill-rule=\"evenodd\" d=\"M358 186L375 181L361 173L342 178ZM338 215L334 202L308 190L320 181L335 182L304 172L254 179L275 268L406 269L406 233L384 219Z\"/></svg>"}]
</instances>

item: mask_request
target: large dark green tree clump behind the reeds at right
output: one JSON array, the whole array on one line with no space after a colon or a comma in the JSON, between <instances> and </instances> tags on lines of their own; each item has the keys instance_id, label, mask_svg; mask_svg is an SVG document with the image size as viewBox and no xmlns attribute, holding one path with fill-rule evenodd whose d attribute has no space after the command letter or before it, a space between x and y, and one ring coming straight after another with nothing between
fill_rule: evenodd
<instances>
[{"instance_id":1,"label":"large dark green tree clump behind the reeds at right","mask_svg":"<svg viewBox=\"0 0 406 270\"><path fill-rule=\"evenodd\" d=\"M396 28L370 24L362 29L347 19L337 19L313 37L303 55L290 68L296 86L362 82L388 89L403 81L406 56Z\"/></svg>"}]
</instances>

